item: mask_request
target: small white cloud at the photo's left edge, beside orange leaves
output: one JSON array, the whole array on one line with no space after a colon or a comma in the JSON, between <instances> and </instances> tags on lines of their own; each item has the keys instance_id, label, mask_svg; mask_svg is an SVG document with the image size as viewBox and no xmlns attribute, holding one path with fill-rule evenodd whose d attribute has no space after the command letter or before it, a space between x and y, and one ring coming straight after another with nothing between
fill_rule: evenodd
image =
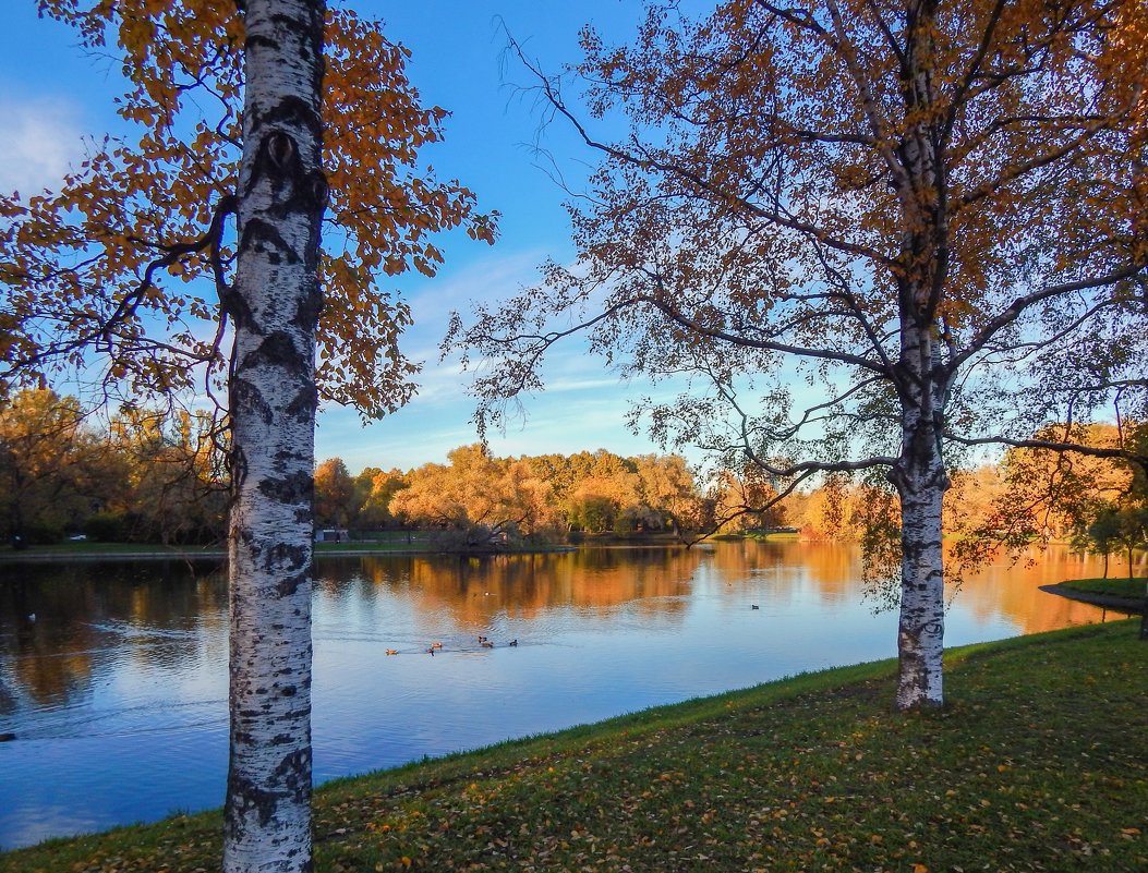
<instances>
[{"instance_id":1,"label":"small white cloud at the photo's left edge, beside orange leaves","mask_svg":"<svg viewBox=\"0 0 1148 873\"><path fill-rule=\"evenodd\" d=\"M56 98L0 98L0 192L57 188L83 142L78 109Z\"/></svg>"}]
</instances>

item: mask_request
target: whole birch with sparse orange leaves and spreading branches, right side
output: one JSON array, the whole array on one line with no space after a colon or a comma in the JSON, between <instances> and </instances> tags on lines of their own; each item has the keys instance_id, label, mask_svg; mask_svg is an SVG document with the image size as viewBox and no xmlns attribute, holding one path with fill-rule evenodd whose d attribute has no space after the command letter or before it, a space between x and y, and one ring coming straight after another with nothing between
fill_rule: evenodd
<instances>
[{"instance_id":1,"label":"whole birch with sparse orange leaves and spreading branches, right side","mask_svg":"<svg viewBox=\"0 0 1148 873\"><path fill-rule=\"evenodd\" d=\"M779 498L883 474L895 704L940 704L946 452L1063 420L1033 364L1142 332L1143 18L1133 0L651 3L631 45L584 30L564 76L515 46L600 164L571 206L576 263L452 322L480 424L582 332L623 373L685 381L639 402L656 437L748 459ZM1108 360L1108 383L1145 384L1142 358Z\"/></svg>"}]
</instances>

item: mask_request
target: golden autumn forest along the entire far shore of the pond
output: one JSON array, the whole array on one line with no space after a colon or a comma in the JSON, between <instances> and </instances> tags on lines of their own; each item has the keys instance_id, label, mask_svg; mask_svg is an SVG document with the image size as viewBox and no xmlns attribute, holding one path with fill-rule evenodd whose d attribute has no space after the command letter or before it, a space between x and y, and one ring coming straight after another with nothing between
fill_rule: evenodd
<instances>
[{"instance_id":1,"label":"golden autumn forest along the entire far shore of the pond","mask_svg":"<svg viewBox=\"0 0 1148 873\"><path fill-rule=\"evenodd\" d=\"M1073 438L1097 446L1118 436L1110 424L1077 431ZM222 541L227 471L219 438L207 414L125 408L95 422L75 398L23 391L0 408L6 539ZM444 547L460 548L587 535L688 539L714 530L864 540L898 519L895 496L881 480L825 476L754 512L777 494L752 466L703 474L681 455L627 458L605 449L497 458L475 443L453 450L447 463L358 474L332 458L317 467L315 484L318 529L351 538L432 529ZM954 476L946 529L970 553L990 543L1068 539L1107 555L1145 547L1146 491L1142 474L1120 461L1011 450L999 463Z\"/></svg>"}]
</instances>

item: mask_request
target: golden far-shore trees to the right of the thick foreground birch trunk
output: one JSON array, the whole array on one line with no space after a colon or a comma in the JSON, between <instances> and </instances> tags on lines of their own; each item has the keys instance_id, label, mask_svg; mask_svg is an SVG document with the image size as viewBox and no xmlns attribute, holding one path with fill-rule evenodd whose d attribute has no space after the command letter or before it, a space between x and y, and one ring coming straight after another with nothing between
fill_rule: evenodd
<instances>
[{"instance_id":1,"label":"golden far-shore trees to the right of the thick foreground birch trunk","mask_svg":"<svg viewBox=\"0 0 1148 873\"><path fill-rule=\"evenodd\" d=\"M1148 438L1143 428L1131 427ZM1120 438L1111 424L1071 429L1071 438L1101 449ZM1042 430L1034 438L1052 436ZM1133 551L1148 547L1143 471L1119 459L1013 449L999 463L959 470L953 480L945 497L945 529L955 536L957 556L965 563L1000 546L1068 540L1103 555L1106 567L1108 555L1124 551L1131 570ZM471 541L778 529L808 539L863 541L875 530L895 529L899 521L887 482L843 474L789 494L767 513L740 512L768 504L774 493L748 465L700 476L680 455L623 458L602 449L495 458L475 444L452 451L445 465L405 473L369 467L351 476L339 458L316 470L316 513L324 527L429 527L465 533Z\"/></svg>"}]
</instances>

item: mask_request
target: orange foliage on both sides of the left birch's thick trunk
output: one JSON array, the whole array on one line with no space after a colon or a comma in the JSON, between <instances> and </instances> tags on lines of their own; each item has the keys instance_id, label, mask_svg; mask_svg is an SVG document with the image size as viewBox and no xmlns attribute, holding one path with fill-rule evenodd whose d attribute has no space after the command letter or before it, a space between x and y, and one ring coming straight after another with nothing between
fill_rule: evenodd
<instances>
[{"instance_id":1,"label":"orange foliage on both sides of the left birch's thick trunk","mask_svg":"<svg viewBox=\"0 0 1148 873\"><path fill-rule=\"evenodd\" d=\"M0 196L0 387L80 375L129 396L218 390L242 15L218 0L39 0L39 9L119 63L126 87L116 111L134 132L90 141L57 190ZM470 189L420 164L447 112L421 104L406 48L379 22L338 8L326 52L317 380L324 397L378 416L410 397L417 372L397 345L410 311L386 278L434 275L439 231L492 242L496 215L479 213Z\"/></svg>"}]
</instances>

